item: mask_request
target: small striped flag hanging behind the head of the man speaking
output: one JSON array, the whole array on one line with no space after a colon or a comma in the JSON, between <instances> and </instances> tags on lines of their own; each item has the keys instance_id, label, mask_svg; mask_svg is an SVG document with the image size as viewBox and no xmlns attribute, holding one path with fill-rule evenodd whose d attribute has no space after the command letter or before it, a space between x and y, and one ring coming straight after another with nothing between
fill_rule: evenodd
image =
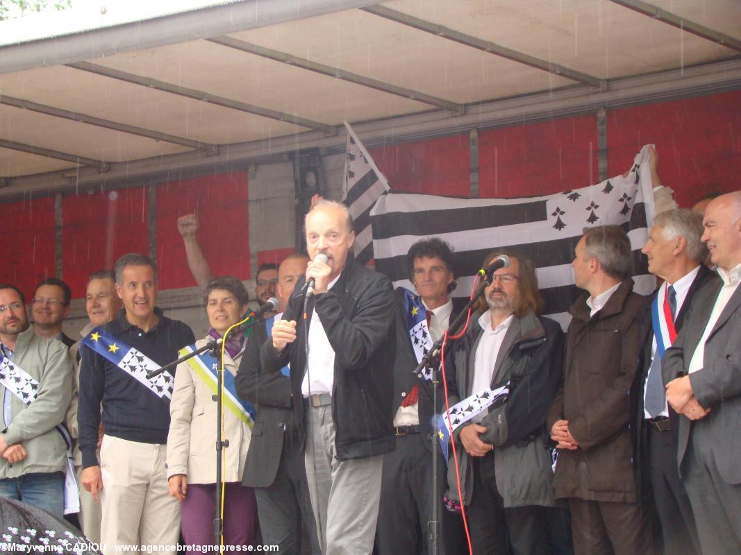
<instances>
[{"instance_id":1,"label":"small striped flag hanging behind the head of the man speaking","mask_svg":"<svg viewBox=\"0 0 741 555\"><path fill-rule=\"evenodd\" d=\"M345 127L348 128L348 147L342 201L348 205L353 217L355 258L359 263L365 264L373 258L371 209L379 196L388 192L391 187L347 121Z\"/></svg>"}]
</instances>

